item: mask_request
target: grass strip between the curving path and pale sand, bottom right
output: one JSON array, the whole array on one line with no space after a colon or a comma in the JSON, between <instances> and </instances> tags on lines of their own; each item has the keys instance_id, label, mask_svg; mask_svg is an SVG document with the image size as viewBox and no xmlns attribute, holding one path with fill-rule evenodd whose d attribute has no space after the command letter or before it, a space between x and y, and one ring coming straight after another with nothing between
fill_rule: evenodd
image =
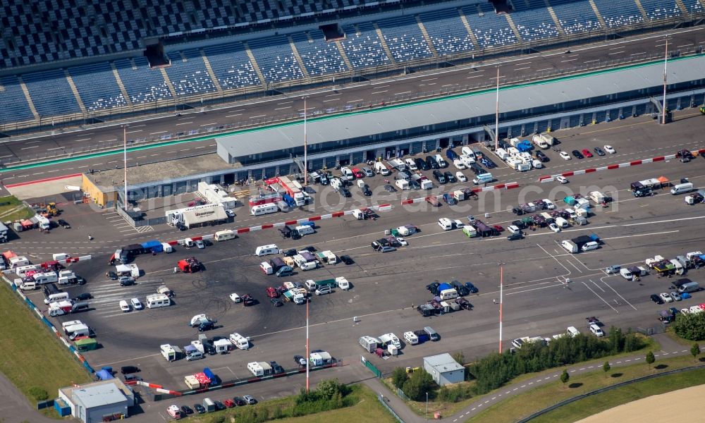
<instances>
[{"instance_id":1,"label":"grass strip between the curving path and pale sand, bottom right","mask_svg":"<svg viewBox=\"0 0 705 423\"><path fill-rule=\"evenodd\" d=\"M526 393L522 393L521 395L514 396L508 400L503 400L499 403L496 403L492 405L491 407L488 407L484 412L480 413L479 415L476 415L472 419L468 419L467 422L472 422L472 423L504 423L504 422L516 422L518 419L521 419L522 417L526 417L527 415L532 414L532 412L536 412L538 410L541 410L545 407L549 407L553 404L556 404L562 400L578 396L582 393L587 393L590 391L594 391L599 388L603 388L604 386L609 386L613 384L618 384L623 381L627 381L630 379L635 379L640 376L646 376L647 374L654 374L658 373L659 371L666 372L668 370L673 370L673 369L679 369L681 367L688 367L694 365L695 362L693 360L692 355L685 355L685 356L679 356L679 357L673 357L673 358L668 358L664 360L656 360L656 362L651 366L651 369L644 363L643 361L639 364L634 364L631 366L625 366L625 367L616 367L611 369L607 374L605 374L601 369L596 370L595 372L589 372L589 373L584 373L580 375L575 375L575 376L570 376L570 380L568 381L565 386L560 383L560 381L556 382L551 382L549 384L546 384L544 386L540 386L539 388L532 389L531 391L527 391ZM654 369L654 366L661 367L661 369ZM692 373L692 372L687 372L687 373ZM666 378L670 376L664 376ZM689 379L690 376L685 376L683 377ZM696 378L697 379L697 378ZM657 378L657 379L652 379L653 384L661 384L661 381L665 379L663 378ZM702 383L703 379L700 379L700 384ZM646 383L646 382L644 382ZM693 384L681 386L681 387L686 387L686 386L692 386ZM627 390L627 392L630 390L630 388L624 388ZM672 391L673 389L677 389L675 387L668 388L665 391ZM663 392L665 392L663 391ZM634 392L632 391L631 394L621 394L617 395L615 394L617 391L609 391L608 393L601 394L600 396L603 398L603 408L600 408L597 410L594 407L590 408L590 405L587 405L587 403L584 403L584 401L587 400L581 400L577 401L575 403L572 403L571 405L568 405L566 407L561 407L559 410L554 411L556 416L558 417L550 417L549 415L544 415L541 417L541 419L536 419L535 421L537 422L572 422L575 420L578 420L582 417L587 417L588 415L595 414L596 412L602 411L602 410L607 410L608 408L615 407L616 405L620 405L623 403L628 403L632 400L636 400L639 398L643 398L642 396L635 395ZM653 395L653 393L646 393L649 392L648 390L644 391L645 394L644 396L649 396ZM661 392L658 392L661 393ZM591 397L593 398L593 397ZM582 407L588 407L585 408L584 410L587 410L587 412L584 412L584 414L581 414L581 417L576 417L573 418L572 416L577 413L577 410L579 407L576 404L583 404ZM563 410L570 407L570 410L572 410L573 414L563 414ZM551 412L551 415L553 415L554 412ZM560 414L558 414L560 413ZM570 417L567 417L570 416Z\"/></svg>"}]
</instances>

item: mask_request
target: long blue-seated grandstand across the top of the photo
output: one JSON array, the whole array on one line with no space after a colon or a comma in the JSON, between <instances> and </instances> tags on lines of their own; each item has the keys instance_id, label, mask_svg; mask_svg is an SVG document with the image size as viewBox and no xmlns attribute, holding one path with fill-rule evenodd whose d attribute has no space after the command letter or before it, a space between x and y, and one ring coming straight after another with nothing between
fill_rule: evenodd
<instances>
[{"instance_id":1,"label":"long blue-seated grandstand across the top of the photo","mask_svg":"<svg viewBox=\"0 0 705 423\"><path fill-rule=\"evenodd\" d=\"M703 23L704 0L5 0L0 133Z\"/></svg>"}]
</instances>

